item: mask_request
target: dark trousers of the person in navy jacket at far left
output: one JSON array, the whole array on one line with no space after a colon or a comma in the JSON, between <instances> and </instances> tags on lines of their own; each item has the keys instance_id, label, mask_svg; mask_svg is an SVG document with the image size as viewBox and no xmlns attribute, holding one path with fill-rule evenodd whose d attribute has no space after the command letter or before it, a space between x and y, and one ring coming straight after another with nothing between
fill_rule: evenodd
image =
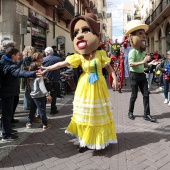
<instances>
[{"instance_id":1,"label":"dark trousers of the person in navy jacket at far left","mask_svg":"<svg viewBox=\"0 0 170 170\"><path fill-rule=\"evenodd\" d=\"M11 135L11 120L13 116L14 96L2 98L1 101L2 101L2 117L1 117L2 137L6 137Z\"/></svg>"}]
</instances>

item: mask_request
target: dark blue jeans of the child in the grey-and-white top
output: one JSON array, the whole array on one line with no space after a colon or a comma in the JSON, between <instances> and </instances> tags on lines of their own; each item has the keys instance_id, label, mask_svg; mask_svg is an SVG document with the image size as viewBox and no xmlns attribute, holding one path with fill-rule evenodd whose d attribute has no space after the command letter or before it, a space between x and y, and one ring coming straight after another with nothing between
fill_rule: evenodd
<instances>
[{"instance_id":1,"label":"dark blue jeans of the child in the grey-and-white top","mask_svg":"<svg viewBox=\"0 0 170 170\"><path fill-rule=\"evenodd\" d=\"M47 126L47 116L46 116L46 97L33 98L31 99L31 108L28 116L28 122L32 123L36 109L38 109L38 114L42 120L43 125Z\"/></svg>"}]
</instances>

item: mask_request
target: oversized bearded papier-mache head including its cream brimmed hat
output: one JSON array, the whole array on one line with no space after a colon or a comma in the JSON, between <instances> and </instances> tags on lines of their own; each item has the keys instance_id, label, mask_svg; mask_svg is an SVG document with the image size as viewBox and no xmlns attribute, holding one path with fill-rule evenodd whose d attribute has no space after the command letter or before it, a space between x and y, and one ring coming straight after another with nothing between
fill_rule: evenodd
<instances>
[{"instance_id":1,"label":"oversized bearded papier-mache head including its cream brimmed hat","mask_svg":"<svg viewBox=\"0 0 170 170\"><path fill-rule=\"evenodd\" d=\"M133 48L140 51L146 49L146 34L149 26L140 20L131 20L126 26L126 36L129 36L130 44Z\"/></svg>"}]
</instances>

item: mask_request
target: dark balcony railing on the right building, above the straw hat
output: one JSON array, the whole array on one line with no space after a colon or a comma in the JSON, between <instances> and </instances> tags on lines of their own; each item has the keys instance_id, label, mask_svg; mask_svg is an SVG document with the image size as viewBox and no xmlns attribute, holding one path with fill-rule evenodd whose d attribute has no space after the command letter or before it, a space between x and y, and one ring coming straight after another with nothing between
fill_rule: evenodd
<instances>
[{"instance_id":1,"label":"dark balcony railing on the right building, above the straw hat","mask_svg":"<svg viewBox=\"0 0 170 170\"><path fill-rule=\"evenodd\" d=\"M168 5L170 5L170 0L162 0L153 13L146 19L145 24L150 25Z\"/></svg>"}]
</instances>

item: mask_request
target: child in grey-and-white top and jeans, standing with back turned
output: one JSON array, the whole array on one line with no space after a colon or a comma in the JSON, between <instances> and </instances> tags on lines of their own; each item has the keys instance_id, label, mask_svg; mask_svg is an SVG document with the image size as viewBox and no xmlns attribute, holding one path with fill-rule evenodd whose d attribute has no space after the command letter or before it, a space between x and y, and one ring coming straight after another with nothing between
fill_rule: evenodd
<instances>
[{"instance_id":1,"label":"child in grey-and-white top and jeans, standing with back turned","mask_svg":"<svg viewBox=\"0 0 170 170\"><path fill-rule=\"evenodd\" d=\"M30 65L30 71L36 71L41 67L39 62L32 62ZM52 98L45 88L43 77L40 78L32 78L30 79L30 89L31 89L31 108L28 117L28 123L26 127L32 128L32 122L35 116L36 109L38 109L38 113L43 123L43 130L47 130L51 128L51 125L47 123L46 116L46 98L49 102L51 102Z\"/></svg>"}]
</instances>

